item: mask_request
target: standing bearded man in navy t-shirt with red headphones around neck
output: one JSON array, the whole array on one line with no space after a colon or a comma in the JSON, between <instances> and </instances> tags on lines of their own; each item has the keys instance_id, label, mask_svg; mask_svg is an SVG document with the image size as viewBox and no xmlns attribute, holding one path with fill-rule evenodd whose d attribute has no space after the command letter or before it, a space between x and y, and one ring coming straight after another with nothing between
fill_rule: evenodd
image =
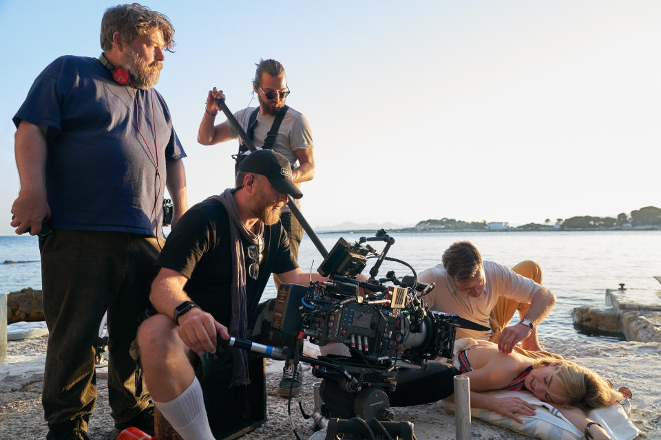
<instances>
[{"instance_id":1,"label":"standing bearded man in navy t-shirt with red headphones around neck","mask_svg":"<svg viewBox=\"0 0 661 440\"><path fill-rule=\"evenodd\" d=\"M186 154L153 88L173 34L167 17L138 3L109 8L103 54L57 58L14 116L21 190L11 224L40 236L50 440L87 439L106 310L115 426L153 432L149 395L134 395L129 346L156 274L165 188L173 225L187 209Z\"/></svg>"}]
</instances>

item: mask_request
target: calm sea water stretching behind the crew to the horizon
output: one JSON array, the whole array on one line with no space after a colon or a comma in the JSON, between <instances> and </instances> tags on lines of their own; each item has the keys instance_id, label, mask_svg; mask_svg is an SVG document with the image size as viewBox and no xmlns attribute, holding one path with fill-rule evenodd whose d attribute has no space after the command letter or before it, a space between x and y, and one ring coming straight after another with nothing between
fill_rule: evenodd
<instances>
[{"instance_id":1,"label":"calm sea water stretching behind the crew to the horizon","mask_svg":"<svg viewBox=\"0 0 661 440\"><path fill-rule=\"evenodd\" d=\"M468 240L483 259L508 267L519 261L534 260L543 270L543 285L556 295L557 303L539 327L541 338L591 338L574 329L571 311L582 305L604 307L605 290L626 287L661 295L661 285L653 276L661 275L661 231L604 232L388 232L395 244L388 256L406 261L418 273L441 262L443 250L454 241ZM319 234L326 250L342 236L350 242L373 232ZM383 242L370 242L377 251ZM39 245L32 236L0 236L0 293L24 287L41 289ZM304 272L317 270L322 262L312 241L304 236L299 263ZM364 274L373 266L368 262ZM379 277L388 270L396 276L411 274L408 267L384 262ZM262 298L273 298L275 286L269 282Z\"/></svg>"}]
</instances>

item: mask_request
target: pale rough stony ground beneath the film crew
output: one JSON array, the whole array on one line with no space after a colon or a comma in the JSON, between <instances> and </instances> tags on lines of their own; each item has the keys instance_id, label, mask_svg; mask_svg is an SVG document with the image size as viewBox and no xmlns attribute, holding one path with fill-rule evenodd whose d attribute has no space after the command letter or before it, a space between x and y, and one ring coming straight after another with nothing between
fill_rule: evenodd
<instances>
[{"instance_id":1,"label":"pale rough stony ground beneath the film crew","mask_svg":"<svg viewBox=\"0 0 661 440\"><path fill-rule=\"evenodd\" d=\"M0 439L44 439L48 429L43 421L41 388L46 337L10 341L8 357L0 363ZM616 387L627 386L633 392L632 420L647 432L649 439L661 439L661 343L593 342L574 339L547 339L543 345L570 360L594 369ZM267 367L267 389L280 380L282 362ZM302 393L292 401L292 419L302 439L312 434L312 423L303 419L298 400L306 411L313 408L312 384L317 379L306 371ZM100 374L100 376L103 376ZM98 379L98 400L90 419L88 434L92 440L114 440L114 429L107 404L107 381ZM268 421L244 439L294 439L287 417L287 401L273 394L267 396ZM436 404L393 408L399 420L412 421L418 439L454 439L454 415ZM527 439L505 428L472 421L474 439Z\"/></svg>"}]
</instances>

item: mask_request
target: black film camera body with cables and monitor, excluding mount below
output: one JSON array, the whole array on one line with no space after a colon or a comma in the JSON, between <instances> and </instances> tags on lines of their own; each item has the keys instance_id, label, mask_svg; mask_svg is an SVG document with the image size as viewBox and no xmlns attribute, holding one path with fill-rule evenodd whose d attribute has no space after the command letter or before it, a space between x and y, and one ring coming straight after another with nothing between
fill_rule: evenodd
<instances>
[{"instance_id":1,"label":"black film camera body with cables and monitor, excluding mount below","mask_svg":"<svg viewBox=\"0 0 661 440\"><path fill-rule=\"evenodd\" d=\"M375 239L387 243L378 256L371 246L362 246ZM273 327L291 336L309 337L320 347L345 344L352 359L377 371L391 370L395 362L400 366L419 365L439 356L450 358L456 327L462 320L457 315L430 311L424 305L422 297L434 285L417 283L415 271L401 281L392 271L386 278L375 278L380 263L388 259L387 248L394 242L384 230L373 238L361 237L353 245L339 239L319 266L318 272L328 276L327 282L311 283L309 287L280 286ZM375 254L377 263L370 279L359 281L356 277L370 253ZM364 296L361 289L366 292Z\"/></svg>"}]
</instances>

